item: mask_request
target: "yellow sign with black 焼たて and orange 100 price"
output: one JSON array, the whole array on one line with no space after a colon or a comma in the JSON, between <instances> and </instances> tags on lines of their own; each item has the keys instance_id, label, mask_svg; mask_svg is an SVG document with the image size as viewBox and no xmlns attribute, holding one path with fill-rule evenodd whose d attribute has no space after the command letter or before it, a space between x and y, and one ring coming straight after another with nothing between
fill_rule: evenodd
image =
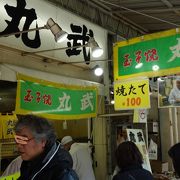
<instances>
[{"instance_id":1,"label":"yellow sign with black \u713c\u305f\u3066 and orange 100 price","mask_svg":"<svg viewBox=\"0 0 180 180\"><path fill-rule=\"evenodd\" d=\"M149 80L129 80L114 84L115 110L150 108Z\"/></svg>"}]
</instances>

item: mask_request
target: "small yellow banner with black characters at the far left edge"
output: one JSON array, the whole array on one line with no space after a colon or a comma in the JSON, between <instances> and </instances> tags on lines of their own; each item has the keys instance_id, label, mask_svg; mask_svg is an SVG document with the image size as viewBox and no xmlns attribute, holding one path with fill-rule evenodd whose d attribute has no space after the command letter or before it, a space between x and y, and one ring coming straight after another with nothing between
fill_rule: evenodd
<instances>
[{"instance_id":1,"label":"small yellow banner with black characters at the far left edge","mask_svg":"<svg viewBox=\"0 0 180 180\"><path fill-rule=\"evenodd\" d=\"M2 137L4 139L14 138L13 129L17 120L16 115L1 115L0 119L2 123Z\"/></svg>"}]
</instances>

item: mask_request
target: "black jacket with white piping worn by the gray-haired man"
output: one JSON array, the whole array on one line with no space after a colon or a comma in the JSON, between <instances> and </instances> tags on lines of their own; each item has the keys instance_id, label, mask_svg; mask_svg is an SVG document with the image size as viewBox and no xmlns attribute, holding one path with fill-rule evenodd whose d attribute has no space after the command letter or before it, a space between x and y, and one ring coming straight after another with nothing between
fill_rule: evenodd
<instances>
[{"instance_id":1,"label":"black jacket with white piping worn by the gray-haired man","mask_svg":"<svg viewBox=\"0 0 180 180\"><path fill-rule=\"evenodd\" d=\"M72 170L73 161L59 143L32 161L23 161L18 180L78 180Z\"/></svg>"}]
</instances>

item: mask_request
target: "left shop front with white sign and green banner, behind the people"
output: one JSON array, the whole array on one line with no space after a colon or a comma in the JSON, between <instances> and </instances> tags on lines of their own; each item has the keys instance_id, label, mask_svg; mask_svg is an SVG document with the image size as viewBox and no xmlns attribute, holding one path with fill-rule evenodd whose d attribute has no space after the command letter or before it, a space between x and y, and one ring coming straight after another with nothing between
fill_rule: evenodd
<instances>
[{"instance_id":1,"label":"left shop front with white sign and green banner, behind the people","mask_svg":"<svg viewBox=\"0 0 180 180\"><path fill-rule=\"evenodd\" d=\"M107 74L94 70L107 68L107 31L43 0L1 1L0 8L1 172L18 155L13 127L18 115L28 113L51 120L59 140L71 135L91 142L94 162L100 162L106 151L101 139L94 142L94 131L101 127L97 114ZM94 166L97 176L99 168Z\"/></svg>"}]
</instances>

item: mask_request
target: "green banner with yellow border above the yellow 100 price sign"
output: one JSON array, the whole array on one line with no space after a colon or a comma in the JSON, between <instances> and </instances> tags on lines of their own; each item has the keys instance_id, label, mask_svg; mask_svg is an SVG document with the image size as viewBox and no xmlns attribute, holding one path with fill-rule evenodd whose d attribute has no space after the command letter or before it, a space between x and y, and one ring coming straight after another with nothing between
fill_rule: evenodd
<instances>
[{"instance_id":1,"label":"green banner with yellow border above the yellow 100 price sign","mask_svg":"<svg viewBox=\"0 0 180 180\"><path fill-rule=\"evenodd\" d=\"M115 80L180 71L180 34L175 30L134 38L114 47Z\"/></svg>"}]
</instances>

